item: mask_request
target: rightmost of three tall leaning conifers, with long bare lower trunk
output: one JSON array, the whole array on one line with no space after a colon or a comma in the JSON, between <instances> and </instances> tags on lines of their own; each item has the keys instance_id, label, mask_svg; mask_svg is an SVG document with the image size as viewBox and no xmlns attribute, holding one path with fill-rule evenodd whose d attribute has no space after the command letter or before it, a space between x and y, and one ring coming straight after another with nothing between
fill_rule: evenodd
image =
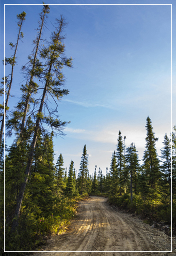
<instances>
[{"instance_id":1,"label":"rightmost of three tall leaning conifers, with long bare lower trunk","mask_svg":"<svg viewBox=\"0 0 176 256\"><path fill-rule=\"evenodd\" d=\"M21 205L23 201L24 191L26 188L26 183L28 181L28 176L30 174L31 165L33 163L34 157L34 150L36 147L36 142L39 134L43 131L43 127L41 126L42 122L46 123L51 127L53 131L57 131L58 133L62 134L61 130L62 127L66 125L67 122L61 122L59 119L54 119L53 114L55 111L50 111L49 106L47 106L47 94L49 93L53 98L56 97L57 99L61 98L63 95L68 94L68 90L60 89L60 86L63 85L64 79L63 74L61 73L61 69L63 66L71 67L72 59L67 59L64 55L65 45L62 44L63 36L61 35L66 23L61 16L60 20L57 20L57 27L56 31L53 32L51 36L51 44L48 47L44 47L41 52L40 56L43 60L45 60L45 70L43 70L43 82L44 88L43 93L41 95L39 109L36 115L36 122L34 128L34 136L33 141L30 145L30 152L27 162L27 167L25 170L25 179L24 182L21 184L19 196L18 196L18 204L15 209L15 218L12 224L12 231L18 226L18 217L20 215ZM43 107L47 106L46 109L49 110L49 116L44 115Z\"/></svg>"}]
</instances>

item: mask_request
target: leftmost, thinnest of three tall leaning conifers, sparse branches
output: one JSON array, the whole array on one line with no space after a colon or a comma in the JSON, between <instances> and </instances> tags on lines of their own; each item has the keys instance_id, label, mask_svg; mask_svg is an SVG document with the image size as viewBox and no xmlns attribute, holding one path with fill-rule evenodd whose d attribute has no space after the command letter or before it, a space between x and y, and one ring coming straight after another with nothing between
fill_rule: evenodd
<instances>
[{"instance_id":1,"label":"leftmost, thinnest of three tall leaning conifers, sparse branches","mask_svg":"<svg viewBox=\"0 0 176 256\"><path fill-rule=\"evenodd\" d=\"M11 86L12 86L14 65L16 63L17 48L18 48L19 40L21 38L23 38L23 32L21 32L21 28L22 28L23 21L25 20L25 17L26 17L26 13L24 11L22 13L20 13L19 15L17 15L17 19L19 20L17 23L19 26L17 42L14 45L12 44L12 42L10 42L10 44L9 44L11 48L15 47L14 54L11 58L5 58L5 60L4 60L5 65L7 65L7 64L11 65L11 74L10 74L10 81L8 81L7 77L4 78L4 81L6 80L6 83L7 83L7 96L6 96L6 100L5 100L4 115L3 115L2 124L1 124L0 145L2 143L4 123L5 123L5 118L6 118L6 112L8 110L8 101L9 101L10 90L11 90Z\"/></svg>"}]
</instances>

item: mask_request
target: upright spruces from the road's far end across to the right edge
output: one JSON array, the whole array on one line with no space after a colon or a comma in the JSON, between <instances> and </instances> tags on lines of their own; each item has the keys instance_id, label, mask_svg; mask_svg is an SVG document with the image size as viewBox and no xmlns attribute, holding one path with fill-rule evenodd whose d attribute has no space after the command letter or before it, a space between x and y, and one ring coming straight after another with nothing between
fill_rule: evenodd
<instances>
[{"instance_id":1,"label":"upright spruces from the road's far end across to the right edge","mask_svg":"<svg viewBox=\"0 0 176 256\"><path fill-rule=\"evenodd\" d=\"M124 139L121 131L119 131L117 148L113 152L109 170L106 168L106 175L103 174L101 168L97 171L97 165L94 174L89 175L88 154L85 145L77 179L75 179L73 161L69 167L68 179L72 180L71 191L74 191L70 192L70 195L73 196L74 193L105 193L110 200L116 200L118 196L121 198L129 196L130 202L133 202L137 197L140 197L143 202L148 200L164 204L173 202L176 189L176 126L173 127L174 132L170 134L170 137L165 134L160 156L157 155L155 147L158 138L155 137L149 117L147 118L146 130L146 146L142 164L140 164L135 144L131 143L130 147L125 149ZM67 171L64 175L62 154L57 159L56 169L60 184L66 182ZM63 191L68 193L66 192L68 190L66 184L65 190L61 189L63 186L60 186L61 193Z\"/></svg>"}]
</instances>

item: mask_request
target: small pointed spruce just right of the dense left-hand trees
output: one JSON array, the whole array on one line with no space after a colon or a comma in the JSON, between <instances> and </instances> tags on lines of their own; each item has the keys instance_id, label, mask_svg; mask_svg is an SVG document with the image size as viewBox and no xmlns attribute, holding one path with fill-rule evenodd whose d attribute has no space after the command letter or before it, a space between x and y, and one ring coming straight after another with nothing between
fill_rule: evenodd
<instances>
[{"instance_id":1,"label":"small pointed spruce just right of the dense left-hand trees","mask_svg":"<svg viewBox=\"0 0 176 256\"><path fill-rule=\"evenodd\" d=\"M65 168L63 168L63 157L62 154L59 155L57 162L56 162L56 188L57 191L63 193L64 189L66 188L66 184L64 182L64 175L65 175Z\"/></svg>"}]
</instances>

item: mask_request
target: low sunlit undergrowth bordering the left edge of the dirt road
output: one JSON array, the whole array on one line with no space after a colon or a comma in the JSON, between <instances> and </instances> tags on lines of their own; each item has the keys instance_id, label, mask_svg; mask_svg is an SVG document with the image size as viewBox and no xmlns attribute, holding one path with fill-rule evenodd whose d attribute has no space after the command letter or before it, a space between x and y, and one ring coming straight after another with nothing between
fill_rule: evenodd
<instances>
[{"instance_id":1,"label":"low sunlit undergrowth bordering the left edge of the dirt road","mask_svg":"<svg viewBox=\"0 0 176 256\"><path fill-rule=\"evenodd\" d=\"M40 250L40 247L46 243L46 237L65 231L66 226L69 225L70 220L73 219L76 214L78 201L84 200L86 196L87 194L83 194L75 198L63 197L57 199L52 211L47 216L37 216L35 212L25 214L24 210L19 219L18 230L11 233L11 227L5 227L5 251L11 252L4 252L4 246L2 246L1 255L18 256L24 255L23 252L18 251L28 252ZM1 227L3 230L2 223ZM2 236L2 245L4 245L3 240L4 238Z\"/></svg>"}]
</instances>

